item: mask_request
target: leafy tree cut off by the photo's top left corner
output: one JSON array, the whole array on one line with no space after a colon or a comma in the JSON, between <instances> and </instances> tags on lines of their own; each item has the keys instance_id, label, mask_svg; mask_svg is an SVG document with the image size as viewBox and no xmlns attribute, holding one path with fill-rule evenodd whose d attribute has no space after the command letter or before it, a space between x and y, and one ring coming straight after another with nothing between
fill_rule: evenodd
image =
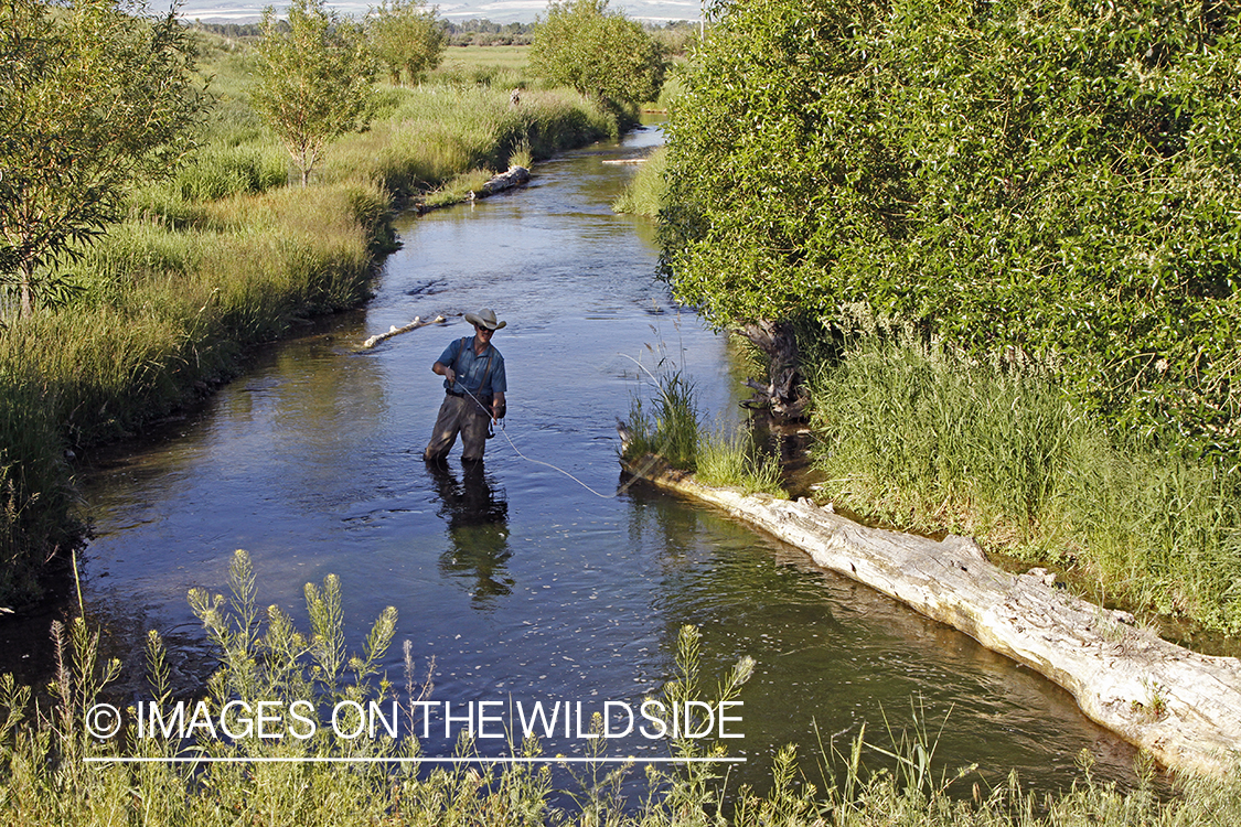
<instances>
[{"instance_id":1,"label":"leafy tree cut off by the photo's top left corner","mask_svg":"<svg viewBox=\"0 0 1241 827\"><path fill-rule=\"evenodd\" d=\"M117 0L0 2L0 283L20 314L66 288L50 273L117 221L127 186L166 175L204 97L171 12Z\"/></svg>"}]
</instances>

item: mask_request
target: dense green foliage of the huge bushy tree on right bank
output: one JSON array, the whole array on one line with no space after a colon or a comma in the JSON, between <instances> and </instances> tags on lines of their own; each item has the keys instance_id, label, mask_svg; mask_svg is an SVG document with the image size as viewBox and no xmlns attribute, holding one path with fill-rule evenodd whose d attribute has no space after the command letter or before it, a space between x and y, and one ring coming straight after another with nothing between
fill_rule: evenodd
<instances>
[{"instance_id":1,"label":"dense green foliage of the huge bushy tree on right bank","mask_svg":"<svg viewBox=\"0 0 1241 827\"><path fill-rule=\"evenodd\" d=\"M1241 448L1229 2L750 0L669 130L665 267L719 324L854 303Z\"/></svg>"}]
</instances>

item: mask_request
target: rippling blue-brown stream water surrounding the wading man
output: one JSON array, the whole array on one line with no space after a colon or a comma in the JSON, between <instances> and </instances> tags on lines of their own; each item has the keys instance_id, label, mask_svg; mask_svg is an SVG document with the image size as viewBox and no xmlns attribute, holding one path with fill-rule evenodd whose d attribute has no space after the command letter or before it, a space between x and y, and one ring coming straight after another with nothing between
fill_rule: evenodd
<instances>
[{"instance_id":1,"label":"rippling blue-brown stream water surrounding the wading man","mask_svg":"<svg viewBox=\"0 0 1241 827\"><path fill-rule=\"evenodd\" d=\"M244 548L261 605L303 622L303 584L339 574L355 650L396 606L386 668L400 682L408 639L423 663L436 658L433 697L454 705L637 705L671 676L676 630L695 624L709 686L741 655L757 660L745 738L730 748L750 759L735 776L759 787L783 744L799 743L813 769L820 738L844 749L867 722L882 741L885 715L908 728L915 698L932 730L948 715L937 759L949 769L977 763L1001 782L1016 767L1028 786L1054 790L1088 748L1098 775L1128 779L1129 748L968 637L702 506L642 485L599 497L515 454L505 436L616 491L614 417L640 389L634 360L650 369L671 360L695 379L707 419L737 417L724 338L654 281L648 224L608 208L632 171L602 161L655 141L647 130L573 153L540 165L520 192L407 221L365 311L266 350L168 439L99 467L86 485L97 536L84 595L118 651L138 652L145 629L159 629L184 686L201 684L210 651L186 590L223 591L232 551ZM458 446L436 471L421 460L442 399L429 367L468 325L452 316L370 352L355 346L416 315L480 306L509 322L495 336L506 430L485 467L463 469ZM609 754L666 750L633 738L617 746ZM452 744L432 738L426 749L448 755ZM581 750L573 738L545 746Z\"/></svg>"}]
</instances>

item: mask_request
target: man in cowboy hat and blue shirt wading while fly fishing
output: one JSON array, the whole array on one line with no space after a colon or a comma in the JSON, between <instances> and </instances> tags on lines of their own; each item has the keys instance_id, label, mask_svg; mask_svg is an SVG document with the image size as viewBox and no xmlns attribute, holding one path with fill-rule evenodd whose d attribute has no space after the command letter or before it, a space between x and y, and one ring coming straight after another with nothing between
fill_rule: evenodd
<instances>
[{"instance_id":1,"label":"man in cowboy hat and blue shirt wading while fly fishing","mask_svg":"<svg viewBox=\"0 0 1241 827\"><path fill-rule=\"evenodd\" d=\"M504 357L491 345L495 331L508 322L496 321L495 311L483 307L465 314L474 336L453 340L431 369L444 377L444 403L422 459L442 462L462 435L462 461L478 462L486 448L490 424L504 417Z\"/></svg>"}]
</instances>

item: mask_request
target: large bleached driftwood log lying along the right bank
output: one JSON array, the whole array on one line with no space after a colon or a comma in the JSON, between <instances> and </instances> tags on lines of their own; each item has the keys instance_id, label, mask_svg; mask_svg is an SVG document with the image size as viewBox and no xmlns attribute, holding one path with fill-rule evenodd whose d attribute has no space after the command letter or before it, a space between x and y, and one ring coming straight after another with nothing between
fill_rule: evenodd
<instances>
[{"instance_id":1,"label":"large bleached driftwood log lying along the right bank","mask_svg":"<svg viewBox=\"0 0 1241 827\"><path fill-rule=\"evenodd\" d=\"M630 474L644 471L647 458ZM652 482L714 503L839 572L953 626L1072 693L1087 717L1167 766L1241 765L1241 661L1181 648L1133 617L1055 588L1042 569L1009 574L974 541L867 528L808 500L710 489L652 464Z\"/></svg>"}]
</instances>

